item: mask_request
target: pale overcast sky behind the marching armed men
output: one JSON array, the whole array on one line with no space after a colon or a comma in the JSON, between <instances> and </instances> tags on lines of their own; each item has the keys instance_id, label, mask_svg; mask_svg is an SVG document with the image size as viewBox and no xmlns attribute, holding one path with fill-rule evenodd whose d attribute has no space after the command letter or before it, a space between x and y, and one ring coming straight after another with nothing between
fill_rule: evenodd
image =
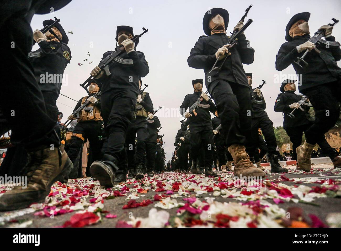
<instances>
[{"instance_id":1,"label":"pale overcast sky behind the marching armed men","mask_svg":"<svg viewBox=\"0 0 341 251\"><path fill-rule=\"evenodd\" d=\"M274 126L283 125L282 114L273 111L276 97L280 93L278 80L282 82L286 79L284 74L295 74L292 66L282 72L275 69L276 54L285 42L285 26L293 15L310 12L309 27L312 35L320 26L330 23L332 17L341 18L340 0L73 0L54 13L35 15L31 27L41 29L43 20L54 19L56 16L66 32L73 32L68 35L72 59L64 71L68 83L62 86L61 94L76 100L86 96L79 84L88 78L106 51L114 50L118 25L132 26L135 34L141 33L142 27L149 29L137 46L137 50L145 54L150 68L143 83L149 85L146 91L150 94L154 108L164 107L166 115L170 109L178 109L184 96L193 92L193 79L205 77L204 70L190 68L187 64L191 48L199 36L204 35L202 20L205 12L211 8L226 9L230 16L227 27L229 33L250 4L253 6L246 19L251 18L253 23L244 33L255 49L255 60L251 65L244 65L244 69L253 72L253 87L260 85L262 79L266 80L267 84L262 89L267 103L266 112ZM335 26L332 32L337 41L341 40L340 26ZM38 45L35 45L33 50L37 48ZM90 56L87 56L88 52ZM85 62L84 59L88 60ZM93 63L89 64L91 61ZM78 63L83 65L79 66ZM75 105L75 101L59 97L57 106L64 114L62 122L72 113ZM164 117L161 113L159 118L161 134L165 134L165 152L168 152L166 158L169 160L182 117Z\"/></svg>"}]
</instances>

